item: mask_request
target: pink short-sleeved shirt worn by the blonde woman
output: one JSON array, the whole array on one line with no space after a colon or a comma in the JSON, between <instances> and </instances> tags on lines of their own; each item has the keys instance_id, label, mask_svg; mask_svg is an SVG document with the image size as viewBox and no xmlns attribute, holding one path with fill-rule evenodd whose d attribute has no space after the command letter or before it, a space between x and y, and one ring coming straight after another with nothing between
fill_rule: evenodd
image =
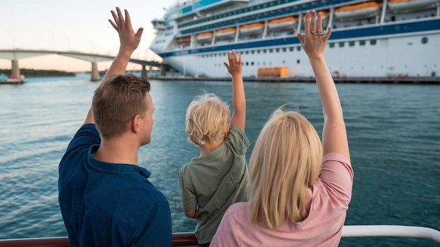
<instances>
[{"instance_id":1,"label":"pink short-sleeved shirt worn by the blonde woman","mask_svg":"<svg viewBox=\"0 0 440 247\"><path fill-rule=\"evenodd\" d=\"M349 159L328 153L310 191L311 208L305 220L268 229L247 222L247 203L235 203L226 211L210 246L338 246L352 186Z\"/></svg>"}]
</instances>

